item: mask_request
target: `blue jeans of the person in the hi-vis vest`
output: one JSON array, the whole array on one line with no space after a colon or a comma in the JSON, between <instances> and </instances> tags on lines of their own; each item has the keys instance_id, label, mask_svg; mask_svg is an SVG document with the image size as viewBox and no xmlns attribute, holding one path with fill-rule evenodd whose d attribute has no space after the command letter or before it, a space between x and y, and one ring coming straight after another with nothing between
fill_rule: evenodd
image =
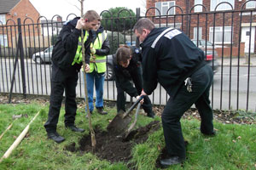
<instances>
[{"instance_id":1,"label":"blue jeans of the person in the hi-vis vest","mask_svg":"<svg viewBox=\"0 0 256 170\"><path fill-rule=\"evenodd\" d=\"M96 88L96 108L103 107L103 85L104 85L104 73L96 73L93 71L91 73L86 74L86 82L87 82L87 90L88 90L88 103L90 112L93 111L93 91L94 84ZM86 106L85 106L86 111Z\"/></svg>"}]
</instances>

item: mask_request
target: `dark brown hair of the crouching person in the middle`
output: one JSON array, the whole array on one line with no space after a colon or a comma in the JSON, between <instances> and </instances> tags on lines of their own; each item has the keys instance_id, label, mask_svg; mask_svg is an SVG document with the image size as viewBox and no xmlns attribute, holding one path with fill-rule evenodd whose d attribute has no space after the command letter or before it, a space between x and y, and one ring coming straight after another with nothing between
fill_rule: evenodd
<instances>
[{"instance_id":1,"label":"dark brown hair of the crouching person in the middle","mask_svg":"<svg viewBox=\"0 0 256 170\"><path fill-rule=\"evenodd\" d=\"M130 59L132 55L131 48L128 46L123 46L117 49L115 56L116 56L116 62L119 65L120 62L127 62L127 59Z\"/></svg>"}]
</instances>

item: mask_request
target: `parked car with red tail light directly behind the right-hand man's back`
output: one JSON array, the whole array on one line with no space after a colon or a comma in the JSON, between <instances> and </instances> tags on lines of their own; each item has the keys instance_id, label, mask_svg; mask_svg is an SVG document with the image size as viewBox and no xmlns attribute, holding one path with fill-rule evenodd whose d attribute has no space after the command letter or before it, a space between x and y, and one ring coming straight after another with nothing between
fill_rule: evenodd
<instances>
[{"instance_id":1,"label":"parked car with red tail light directly behind the right-hand man's back","mask_svg":"<svg viewBox=\"0 0 256 170\"><path fill-rule=\"evenodd\" d=\"M209 42L203 39L201 40L194 39L191 41L194 42L195 46L197 46L198 48L201 48L201 50L205 53L207 64L212 67L213 73L216 73L218 71L218 66L219 66L217 61L218 53L216 51L216 48L213 49L212 42ZM207 52L206 52L206 48L207 48Z\"/></svg>"}]
</instances>

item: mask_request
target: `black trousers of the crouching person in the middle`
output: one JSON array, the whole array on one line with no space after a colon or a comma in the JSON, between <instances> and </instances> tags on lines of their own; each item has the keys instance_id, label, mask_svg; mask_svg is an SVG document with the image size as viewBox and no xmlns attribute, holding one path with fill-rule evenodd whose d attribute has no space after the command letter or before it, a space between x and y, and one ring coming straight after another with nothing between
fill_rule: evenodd
<instances>
[{"instance_id":1,"label":"black trousers of the crouching person in the middle","mask_svg":"<svg viewBox=\"0 0 256 170\"><path fill-rule=\"evenodd\" d=\"M138 67L137 71L133 74L131 74L131 79L132 82L135 85L135 88L137 89L137 94L141 94L142 90L143 90L143 77L142 77L142 72L141 72L141 68ZM117 111L119 112L120 110L125 111L125 91L120 88L117 85L117 91L118 91L118 95L117 95ZM143 110L146 113L150 113L152 111L152 104L151 104L151 100L148 98L148 96L144 97L144 102L143 102Z\"/></svg>"}]
</instances>

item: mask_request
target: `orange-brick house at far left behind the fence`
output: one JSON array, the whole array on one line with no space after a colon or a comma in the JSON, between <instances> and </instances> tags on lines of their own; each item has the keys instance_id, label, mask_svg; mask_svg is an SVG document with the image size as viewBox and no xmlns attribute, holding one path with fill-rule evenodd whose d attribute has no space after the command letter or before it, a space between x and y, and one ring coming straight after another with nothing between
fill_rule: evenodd
<instances>
[{"instance_id":1,"label":"orange-brick house at far left behind the fence","mask_svg":"<svg viewBox=\"0 0 256 170\"><path fill-rule=\"evenodd\" d=\"M18 24L17 19L20 18L21 25L24 24L24 20L25 24L32 24L32 20L37 21L40 14L29 0L0 0L0 4L0 26L3 26L0 30L0 43L5 47L12 46L10 40L17 36L17 28L14 27ZM31 20L26 20L26 17ZM40 29L34 30L35 36L38 36ZM23 27L22 31L24 31ZM27 34L28 26L25 26L25 32Z\"/></svg>"}]
</instances>

